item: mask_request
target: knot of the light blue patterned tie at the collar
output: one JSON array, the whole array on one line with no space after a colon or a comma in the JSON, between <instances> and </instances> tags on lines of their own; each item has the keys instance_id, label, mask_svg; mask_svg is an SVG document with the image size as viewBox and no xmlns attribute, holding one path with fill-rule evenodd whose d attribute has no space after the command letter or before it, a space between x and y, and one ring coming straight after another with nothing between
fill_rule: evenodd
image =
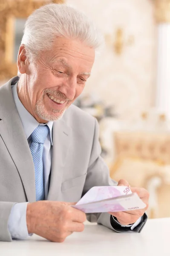
<instances>
[{"instance_id":1,"label":"knot of the light blue patterned tie at the collar","mask_svg":"<svg viewBox=\"0 0 170 256\"><path fill-rule=\"evenodd\" d=\"M49 128L47 125L38 125L31 134L32 142L44 144L48 133Z\"/></svg>"}]
</instances>

